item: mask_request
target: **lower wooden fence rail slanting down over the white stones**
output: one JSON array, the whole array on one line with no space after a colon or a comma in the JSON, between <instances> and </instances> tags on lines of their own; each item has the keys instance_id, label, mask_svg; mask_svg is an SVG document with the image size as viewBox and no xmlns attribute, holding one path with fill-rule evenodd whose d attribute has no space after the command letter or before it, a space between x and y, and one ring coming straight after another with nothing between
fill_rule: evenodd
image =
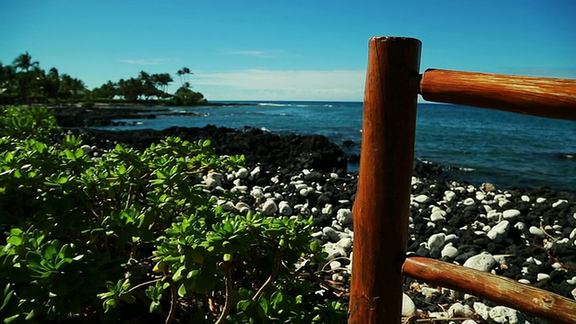
<instances>
[{"instance_id":1,"label":"lower wooden fence rail slanting down over the white stones","mask_svg":"<svg viewBox=\"0 0 576 324\"><path fill-rule=\"evenodd\" d=\"M427 257L407 257L402 274L469 293L553 323L576 323L576 302L501 275Z\"/></svg>"}]
</instances>

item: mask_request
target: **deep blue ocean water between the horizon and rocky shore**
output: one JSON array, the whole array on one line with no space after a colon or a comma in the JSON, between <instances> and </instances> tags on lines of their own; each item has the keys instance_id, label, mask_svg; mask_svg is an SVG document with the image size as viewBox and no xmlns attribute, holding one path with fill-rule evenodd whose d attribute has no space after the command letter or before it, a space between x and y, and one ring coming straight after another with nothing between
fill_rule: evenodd
<instances>
[{"instance_id":1,"label":"deep blue ocean water between the horizon and rocky shore","mask_svg":"<svg viewBox=\"0 0 576 324\"><path fill-rule=\"evenodd\" d=\"M239 105L170 107L199 116L158 115L125 121L109 130L209 124L272 132L321 134L359 154L362 103L240 102ZM419 103L415 157L449 166L455 180L490 182L500 188L546 186L576 192L576 122L440 103ZM357 165L350 165L355 171Z\"/></svg>"}]
</instances>

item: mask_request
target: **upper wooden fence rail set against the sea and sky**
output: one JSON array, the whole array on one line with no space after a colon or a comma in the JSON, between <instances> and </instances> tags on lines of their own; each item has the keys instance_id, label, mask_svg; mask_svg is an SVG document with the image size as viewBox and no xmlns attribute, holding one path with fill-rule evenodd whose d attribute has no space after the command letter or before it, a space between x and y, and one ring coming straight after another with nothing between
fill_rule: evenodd
<instances>
[{"instance_id":1,"label":"upper wooden fence rail set against the sea and sky","mask_svg":"<svg viewBox=\"0 0 576 324\"><path fill-rule=\"evenodd\" d=\"M576 121L576 80L442 69L420 77L427 101Z\"/></svg>"}]
</instances>

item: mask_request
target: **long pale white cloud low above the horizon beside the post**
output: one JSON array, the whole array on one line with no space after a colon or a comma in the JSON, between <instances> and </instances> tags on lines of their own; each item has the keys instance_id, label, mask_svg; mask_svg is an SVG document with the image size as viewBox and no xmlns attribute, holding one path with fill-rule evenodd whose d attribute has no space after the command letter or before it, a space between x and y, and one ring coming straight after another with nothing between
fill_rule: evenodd
<instances>
[{"instance_id":1,"label":"long pale white cloud low above the horizon beside the post","mask_svg":"<svg viewBox=\"0 0 576 324\"><path fill-rule=\"evenodd\" d=\"M209 100L361 101L364 70L266 70L197 73L193 85Z\"/></svg>"}]
</instances>

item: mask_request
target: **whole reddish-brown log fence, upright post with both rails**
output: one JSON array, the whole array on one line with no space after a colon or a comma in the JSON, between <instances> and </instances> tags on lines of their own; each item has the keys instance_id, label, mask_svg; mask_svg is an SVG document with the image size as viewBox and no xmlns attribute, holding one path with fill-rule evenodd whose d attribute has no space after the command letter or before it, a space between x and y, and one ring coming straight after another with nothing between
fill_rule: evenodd
<instances>
[{"instance_id":1,"label":"whole reddish-brown log fence, upright post with both rails","mask_svg":"<svg viewBox=\"0 0 576 324\"><path fill-rule=\"evenodd\" d=\"M410 38L369 40L349 322L400 323L404 274L554 323L576 323L576 302L562 296L498 275L406 257L418 94L428 101L576 121L576 80L447 70L420 75L420 47Z\"/></svg>"}]
</instances>

